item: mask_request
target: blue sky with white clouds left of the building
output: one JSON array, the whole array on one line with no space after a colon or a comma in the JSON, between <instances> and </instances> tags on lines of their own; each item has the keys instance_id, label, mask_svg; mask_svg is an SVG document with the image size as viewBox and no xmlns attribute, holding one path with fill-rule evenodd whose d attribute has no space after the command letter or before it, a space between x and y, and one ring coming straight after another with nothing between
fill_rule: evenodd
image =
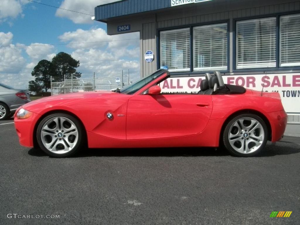
<instances>
[{"instance_id":1,"label":"blue sky with white clouds left of the building","mask_svg":"<svg viewBox=\"0 0 300 225\"><path fill-rule=\"evenodd\" d=\"M94 15L97 5L116 0L35 1ZM129 69L131 81L139 79L139 33L109 36L106 24L91 17L28 0L0 0L0 83L28 88L33 68L58 52L79 60L82 78L93 72L96 77L116 76Z\"/></svg>"}]
</instances>

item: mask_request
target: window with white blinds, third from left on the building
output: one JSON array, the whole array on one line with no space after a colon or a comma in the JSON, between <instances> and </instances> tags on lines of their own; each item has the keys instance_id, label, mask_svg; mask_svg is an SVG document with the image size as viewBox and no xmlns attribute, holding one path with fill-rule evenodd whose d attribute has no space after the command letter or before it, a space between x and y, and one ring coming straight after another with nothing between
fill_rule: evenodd
<instances>
[{"instance_id":1,"label":"window with white blinds, third from left on the building","mask_svg":"<svg viewBox=\"0 0 300 225\"><path fill-rule=\"evenodd\" d=\"M236 68L276 67L276 18L236 22Z\"/></svg>"}]
</instances>

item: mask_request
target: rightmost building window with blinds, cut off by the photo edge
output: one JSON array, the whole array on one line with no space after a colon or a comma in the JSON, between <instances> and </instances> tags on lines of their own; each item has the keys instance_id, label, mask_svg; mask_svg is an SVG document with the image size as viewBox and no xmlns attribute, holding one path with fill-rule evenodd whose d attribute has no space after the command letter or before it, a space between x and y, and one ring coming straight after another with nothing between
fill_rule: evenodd
<instances>
[{"instance_id":1,"label":"rightmost building window with blinds, cut off by the photo edge","mask_svg":"<svg viewBox=\"0 0 300 225\"><path fill-rule=\"evenodd\" d=\"M280 66L300 65L300 14L280 17Z\"/></svg>"}]
</instances>

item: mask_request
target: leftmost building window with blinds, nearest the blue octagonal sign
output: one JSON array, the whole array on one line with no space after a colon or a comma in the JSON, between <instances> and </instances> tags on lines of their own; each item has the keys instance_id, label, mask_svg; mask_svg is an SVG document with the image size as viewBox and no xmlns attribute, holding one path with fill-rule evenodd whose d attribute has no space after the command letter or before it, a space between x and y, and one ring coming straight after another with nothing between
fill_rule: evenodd
<instances>
[{"instance_id":1,"label":"leftmost building window with blinds, nearest the blue octagonal sign","mask_svg":"<svg viewBox=\"0 0 300 225\"><path fill-rule=\"evenodd\" d=\"M160 64L170 72L190 71L190 28L160 32Z\"/></svg>"}]
</instances>

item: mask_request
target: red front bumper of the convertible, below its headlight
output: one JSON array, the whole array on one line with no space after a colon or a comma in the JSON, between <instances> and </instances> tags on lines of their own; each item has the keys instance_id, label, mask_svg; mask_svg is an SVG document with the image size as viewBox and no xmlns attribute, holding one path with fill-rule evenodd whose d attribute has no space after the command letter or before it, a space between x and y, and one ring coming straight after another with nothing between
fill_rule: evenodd
<instances>
[{"instance_id":1,"label":"red front bumper of the convertible, below its headlight","mask_svg":"<svg viewBox=\"0 0 300 225\"><path fill-rule=\"evenodd\" d=\"M14 115L14 124L19 137L19 143L25 147L33 147L33 131L41 115L32 113L27 119L17 119Z\"/></svg>"}]
</instances>

